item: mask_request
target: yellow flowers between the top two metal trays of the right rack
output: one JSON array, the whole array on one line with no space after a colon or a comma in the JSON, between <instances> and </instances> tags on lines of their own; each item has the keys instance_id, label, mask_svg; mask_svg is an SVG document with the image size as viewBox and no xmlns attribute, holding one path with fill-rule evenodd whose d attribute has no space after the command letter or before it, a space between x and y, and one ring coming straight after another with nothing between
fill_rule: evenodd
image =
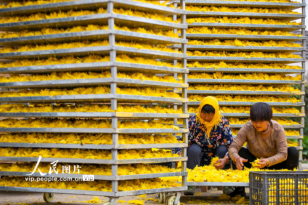
<instances>
[{"instance_id":1,"label":"yellow flowers between the top two metal trays of the right rack","mask_svg":"<svg viewBox=\"0 0 308 205\"><path fill-rule=\"evenodd\" d=\"M241 13L276 13L276 14L299 14L298 12L292 10L282 10L282 9L263 9L263 8L250 8L250 7L216 7L216 6L186 6L188 11L211 11L211 12L241 12Z\"/></svg>"}]
</instances>

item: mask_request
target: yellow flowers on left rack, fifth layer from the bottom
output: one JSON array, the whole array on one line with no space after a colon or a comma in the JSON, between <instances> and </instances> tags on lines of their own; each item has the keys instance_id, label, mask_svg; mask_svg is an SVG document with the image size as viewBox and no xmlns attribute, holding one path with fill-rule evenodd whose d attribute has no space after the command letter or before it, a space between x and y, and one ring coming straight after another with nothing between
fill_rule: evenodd
<instances>
[{"instance_id":1,"label":"yellow flowers on left rack, fifth layer from the bottom","mask_svg":"<svg viewBox=\"0 0 308 205\"><path fill-rule=\"evenodd\" d=\"M110 120L68 120L68 119L5 119L0 120L2 128L111 128ZM179 130L178 127L172 125L157 124L155 122L144 121L121 121L118 122L118 128L172 128Z\"/></svg>"}]
</instances>

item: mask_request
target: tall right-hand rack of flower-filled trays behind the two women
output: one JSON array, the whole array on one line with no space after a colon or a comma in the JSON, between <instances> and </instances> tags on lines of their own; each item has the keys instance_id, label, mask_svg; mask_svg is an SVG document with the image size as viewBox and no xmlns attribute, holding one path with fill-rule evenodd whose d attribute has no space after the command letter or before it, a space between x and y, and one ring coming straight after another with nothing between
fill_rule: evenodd
<instances>
[{"instance_id":1,"label":"tall right-hand rack of flower-filled trays behind the two women","mask_svg":"<svg viewBox=\"0 0 308 205\"><path fill-rule=\"evenodd\" d=\"M177 1L169 3L176 5ZM305 2L289 0L186 1L190 116L195 115L204 97L214 96L235 137L249 121L250 106L267 102L273 108L274 120L286 129L287 139L298 139L298 143L290 141L288 145L299 150L300 169L305 116L305 6ZM298 8L302 14L292 12ZM302 21L291 22L296 19ZM302 35L289 33L295 30L301 30ZM294 41L302 41L302 46ZM181 49L180 45L169 47ZM297 51L302 57L292 54ZM296 84L299 89L290 86ZM286 119L289 117L298 120Z\"/></svg>"}]
</instances>

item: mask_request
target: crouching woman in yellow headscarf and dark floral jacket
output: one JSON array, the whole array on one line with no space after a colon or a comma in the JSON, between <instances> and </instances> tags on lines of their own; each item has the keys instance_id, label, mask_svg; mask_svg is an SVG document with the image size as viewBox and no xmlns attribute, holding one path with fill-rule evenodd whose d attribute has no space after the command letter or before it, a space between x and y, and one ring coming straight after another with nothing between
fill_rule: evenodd
<instances>
[{"instance_id":1,"label":"crouching woman in yellow headscarf and dark floral jacket","mask_svg":"<svg viewBox=\"0 0 308 205\"><path fill-rule=\"evenodd\" d=\"M219 113L216 98L209 96L201 101L198 113L188 120L188 128L187 168L209 165L216 156L220 158L214 164L217 169L230 168L228 148L233 137L229 121ZM180 154L181 149L176 152ZM184 194L193 195L194 186L188 186Z\"/></svg>"}]
</instances>

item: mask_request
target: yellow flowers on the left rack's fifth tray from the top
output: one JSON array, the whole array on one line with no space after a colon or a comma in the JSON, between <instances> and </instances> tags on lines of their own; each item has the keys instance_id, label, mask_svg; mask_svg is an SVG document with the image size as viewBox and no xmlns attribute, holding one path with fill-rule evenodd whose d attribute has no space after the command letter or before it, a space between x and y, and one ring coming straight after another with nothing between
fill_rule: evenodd
<instances>
[{"instance_id":1,"label":"yellow flowers on the left rack's fifth tray from the top","mask_svg":"<svg viewBox=\"0 0 308 205\"><path fill-rule=\"evenodd\" d=\"M46 59L22 59L13 62L0 62L0 68L6 67L23 67L23 66L39 66L39 65L58 65L58 64L74 64L74 63L95 63L95 62L105 62L110 61L109 56L99 56L99 55L92 55L86 57L63 57L63 58L56 58L56 57L48 57ZM128 63L140 63L140 64L150 64L150 65L158 65L158 66L168 66L168 67L180 67L178 64L174 66L171 63L156 61L150 58L143 58L143 57L129 57L128 55L121 54L116 56L116 61L120 62L128 62Z\"/></svg>"}]
</instances>

